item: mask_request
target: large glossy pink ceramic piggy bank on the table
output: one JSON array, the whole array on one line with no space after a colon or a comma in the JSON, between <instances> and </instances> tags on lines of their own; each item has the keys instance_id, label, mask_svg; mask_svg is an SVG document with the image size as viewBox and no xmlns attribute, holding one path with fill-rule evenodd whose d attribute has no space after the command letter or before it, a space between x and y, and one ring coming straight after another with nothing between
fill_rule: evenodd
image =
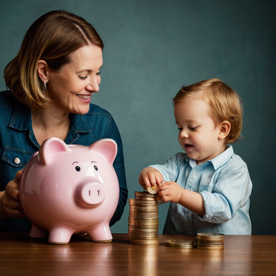
<instances>
[{"instance_id":1,"label":"large glossy pink ceramic piggy bank on the table","mask_svg":"<svg viewBox=\"0 0 276 276\"><path fill-rule=\"evenodd\" d=\"M26 164L19 185L20 202L32 222L30 237L67 244L72 234L92 241L112 240L109 222L119 200L112 166L117 144L101 139L90 146L46 139Z\"/></svg>"}]
</instances>

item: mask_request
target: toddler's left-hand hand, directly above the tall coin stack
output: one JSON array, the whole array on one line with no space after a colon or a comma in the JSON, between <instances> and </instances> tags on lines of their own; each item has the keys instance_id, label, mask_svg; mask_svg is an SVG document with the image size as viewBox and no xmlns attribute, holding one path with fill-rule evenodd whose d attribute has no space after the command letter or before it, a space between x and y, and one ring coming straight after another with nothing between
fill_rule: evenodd
<instances>
[{"instance_id":1,"label":"toddler's left-hand hand, directly above the tall coin stack","mask_svg":"<svg viewBox=\"0 0 276 276\"><path fill-rule=\"evenodd\" d=\"M144 168L138 178L139 184L146 190L147 187L154 187L160 186L163 183L163 176L159 170L147 167Z\"/></svg>"}]
</instances>

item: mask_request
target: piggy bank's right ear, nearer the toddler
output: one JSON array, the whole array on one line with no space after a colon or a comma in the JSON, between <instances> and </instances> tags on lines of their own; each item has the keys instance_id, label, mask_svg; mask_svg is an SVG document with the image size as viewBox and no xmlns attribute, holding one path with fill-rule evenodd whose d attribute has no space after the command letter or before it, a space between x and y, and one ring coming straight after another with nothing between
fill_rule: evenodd
<instances>
[{"instance_id":1,"label":"piggy bank's right ear, nearer the toddler","mask_svg":"<svg viewBox=\"0 0 276 276\"><path fill-rule=\"evenodd\" d=\"M117 144L112 139L101 139L90 145L89 150L101 154L109 164L113 164L117 154Z\"/></svg>"}]
</instances>

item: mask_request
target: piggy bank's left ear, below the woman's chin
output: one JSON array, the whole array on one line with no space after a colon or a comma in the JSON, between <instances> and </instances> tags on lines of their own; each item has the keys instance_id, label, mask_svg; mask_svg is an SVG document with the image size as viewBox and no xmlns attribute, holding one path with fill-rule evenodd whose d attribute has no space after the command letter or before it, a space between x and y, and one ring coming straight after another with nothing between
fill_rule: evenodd
<instances>
[{"instance_id":1,"label":"piggy bank's left ear, below the woman's chin","mask_svg":"<svg viewBox=\"0 0 276 276\"><path fill-rule=\"evenodd\" d=\"M71 149L59 138L48 138L40 146L38 160L42 165L48 165L60 152L69 153Z\"/></svg>"}]
</instances>

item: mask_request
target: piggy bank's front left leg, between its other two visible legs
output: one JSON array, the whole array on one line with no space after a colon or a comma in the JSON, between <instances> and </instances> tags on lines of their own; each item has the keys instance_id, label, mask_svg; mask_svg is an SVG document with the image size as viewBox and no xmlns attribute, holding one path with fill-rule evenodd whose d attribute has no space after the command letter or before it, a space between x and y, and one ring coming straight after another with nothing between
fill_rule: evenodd
<instances>
[{"instance_id":1,"label":"piggy bank's front left leg, between its other two visible legs","mask_svg":"<svg viewBox=\"0 0 276 276\"><path fill-rule=\"evenodd\" d=\"M68 244L74 229L68 225L53 225L49 230L48 242L50 244Z\"/></svg>"}]
</instances>

